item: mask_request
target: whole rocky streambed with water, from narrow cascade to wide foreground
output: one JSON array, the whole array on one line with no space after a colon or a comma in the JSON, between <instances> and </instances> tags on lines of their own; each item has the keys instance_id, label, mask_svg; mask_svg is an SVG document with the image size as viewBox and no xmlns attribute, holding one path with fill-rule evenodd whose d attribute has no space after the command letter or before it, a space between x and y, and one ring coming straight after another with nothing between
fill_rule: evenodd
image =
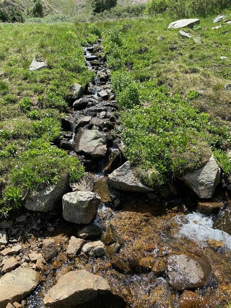
<instances>
[{"instance_id":1,"label":"whole rocky streambed with water, from narrow cascade to wide foreground","mask_svg":"<svg viewBox=\"0 0 231 308\"><path fill-rule=\"evenodd\" d=\"M179 182L166 200L143 185L122 154L100 41L84 55L96 77L86 89L73 85L59 146L86 175L0 222L0 307L226 307L228 193L218 187L199 200Z\"/></svg>"}]
</instances>

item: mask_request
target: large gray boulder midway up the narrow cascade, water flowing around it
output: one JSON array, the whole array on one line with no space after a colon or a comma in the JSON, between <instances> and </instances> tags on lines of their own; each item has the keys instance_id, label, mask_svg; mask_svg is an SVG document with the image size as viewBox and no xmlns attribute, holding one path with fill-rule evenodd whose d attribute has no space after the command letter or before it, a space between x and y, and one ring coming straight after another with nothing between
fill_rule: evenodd
<instances>
[{"instance_id":1,"label":"large gray boulder midway up the narrow cascade, water flowing around it","mask_svg":"<svg viewBox=\"0 0 231 308\"><path fill-rule=\"evenodd\" d=\"M80 130L75 136L77 153L89 154L95 159L103 158L107 152L107 140L97 130Z\"/></svg>"}]
</instances>

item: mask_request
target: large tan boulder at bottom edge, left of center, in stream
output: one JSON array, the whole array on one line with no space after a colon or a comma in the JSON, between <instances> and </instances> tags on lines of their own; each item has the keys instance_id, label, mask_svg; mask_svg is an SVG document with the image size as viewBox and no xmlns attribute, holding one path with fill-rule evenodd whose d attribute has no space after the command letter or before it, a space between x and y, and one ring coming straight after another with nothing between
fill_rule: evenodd
<instances>
[{"instance_id":1,"label":"large tan boulder at bottom edge, left of center, in stream","mask_svg":"<svg viewBox=\"0 0 231 308\"><path fill-rule=\"evenodd\" d=\"M86 270L75 270L61 276L43 301L50 308L125 307L124 300L113 294L106 279Z\"/></svg>"}]
</instances>

